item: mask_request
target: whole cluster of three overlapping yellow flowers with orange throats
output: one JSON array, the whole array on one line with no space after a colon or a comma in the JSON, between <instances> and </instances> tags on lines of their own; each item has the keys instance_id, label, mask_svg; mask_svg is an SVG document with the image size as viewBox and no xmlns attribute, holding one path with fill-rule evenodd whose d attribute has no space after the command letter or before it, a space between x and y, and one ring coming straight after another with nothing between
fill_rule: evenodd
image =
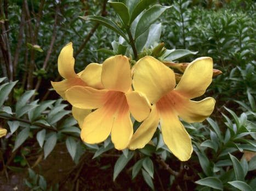
<instances>
[{"instance_id":1,"label":"whole cluster of three overlapping yellow flowers with orange throats","mask_svg":"<svg viewBox=\"0 0 256 191\"><path fill-rule=\"evenodd\" d=\"M103 142L111 134L117 150L135 150L149 143L160 124L169 150L180 160L190 158L191 139L179 117L192 123L212 114L213 98L191 100L202 96L212 82L212 58L191 62L178 85L174 71L151 56L139 59L132 70L129 58L122 55L107 58L102 64L90 63L78 74L74 64L69 43L58 58L64 80L52 82L52 86L72 105L84 142ZM135 133L132 118L141 122Z\"/></svg>"}]
</instances>

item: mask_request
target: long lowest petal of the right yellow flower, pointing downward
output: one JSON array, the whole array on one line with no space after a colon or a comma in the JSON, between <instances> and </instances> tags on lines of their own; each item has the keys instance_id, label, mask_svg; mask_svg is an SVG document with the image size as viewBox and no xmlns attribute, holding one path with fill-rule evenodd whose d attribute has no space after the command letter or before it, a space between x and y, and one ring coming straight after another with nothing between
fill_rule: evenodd
<instances>
[{"instance_id":1,"label":"long lowest petal of the right yellow flower, pointing downward","mask_svg":"<svg viewBox=\"0 0 256 191\"><path fill-rule=\"evenodd\" d=\"M191 139L178 116L171 109L160 109L159 113L164 143L179 160L189 160L193 151Z\"/></svg>"}]
</instances>

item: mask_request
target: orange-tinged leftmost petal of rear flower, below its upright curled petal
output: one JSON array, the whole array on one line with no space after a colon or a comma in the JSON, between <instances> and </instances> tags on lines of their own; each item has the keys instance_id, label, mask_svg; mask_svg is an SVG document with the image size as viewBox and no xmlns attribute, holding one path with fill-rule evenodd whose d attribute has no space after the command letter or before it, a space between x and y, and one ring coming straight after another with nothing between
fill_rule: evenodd
<instances>
[{"instance_id":1,"label":"orange-tinged leftmost petal of rear flower, below its upright curled petal","mask_svg":"<svg viewBox=\"0 0 256 191\"><path fill-rule=\"evenodd\" d=\"M59 82L51 81L53 88L55 91L63 98L66 99L65 92L72 86L87 86L83 80L79 77L73 77L71 79L65 79Z\"/></svg>"}]
</instances>

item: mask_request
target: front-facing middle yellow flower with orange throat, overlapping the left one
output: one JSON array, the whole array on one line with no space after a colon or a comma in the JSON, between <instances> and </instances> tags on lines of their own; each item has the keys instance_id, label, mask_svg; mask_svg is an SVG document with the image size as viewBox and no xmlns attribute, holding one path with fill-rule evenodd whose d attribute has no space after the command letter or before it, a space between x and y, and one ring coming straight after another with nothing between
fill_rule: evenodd
<instances>
[{"instance_id":1,"label":"front-facing middle yellow flower with orange throat, overlapping the left one","mask_svg":"<svg viewBox=\"0 0 256 191\"><path fill-rule=\"evenodd\" d=\"M126 56L107 58L102 65L101 83L104 89L73 86L66 91L71 105L80 109L96 109L86 118L81 138L88 144L111 140L118 150L126 148L133 135L135 120L143 121L150 113L151 105L144 94L132 91L132 74Z\"/></svg>"}]
</instances>

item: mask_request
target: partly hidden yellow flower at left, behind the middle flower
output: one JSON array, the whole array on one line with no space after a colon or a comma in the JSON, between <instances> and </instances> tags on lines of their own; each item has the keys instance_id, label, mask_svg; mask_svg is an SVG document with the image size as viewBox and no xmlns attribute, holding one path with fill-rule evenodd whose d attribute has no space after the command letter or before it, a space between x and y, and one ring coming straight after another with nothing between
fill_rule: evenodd
<instances>
[{"instance_id":1,"label":"partly hidden yellow flower at left, behind the middle flower","mask_svg":"<svg viewBox=\"0 0 256 191\"><path fill-rule=\"evenodd\" d=\"M63 99L66 99L65 92L72 86L90 86L94 88L103 88L101 84L101 69L102 65L98 63L90 63L86 69L76 74L74 70L75 58L73 58L72 43L64 46L58 57L59 74L64 78L60 82L51 82L55 91L60 94ZM73 117L78 121L79 126L82 126L83 118L90 113L90 110L81 110L72 107Z\"/></svg>"}]
</instances>

